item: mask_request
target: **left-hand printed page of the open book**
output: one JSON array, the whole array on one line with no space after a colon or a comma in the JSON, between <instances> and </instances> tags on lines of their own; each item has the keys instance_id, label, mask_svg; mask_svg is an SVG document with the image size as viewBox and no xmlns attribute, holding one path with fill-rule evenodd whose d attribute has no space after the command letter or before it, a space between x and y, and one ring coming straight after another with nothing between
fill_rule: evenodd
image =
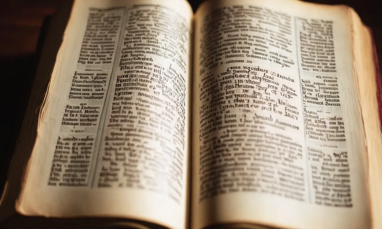
<instances>
[{"instance_id":1,"label":"left-hand printed page of the open book","mask_svg":"<svg viewBox=\"0 0 382 229\"><path fill-rule=\"evenodd\" d=\"M76 1L16 209L186 226L192 10Z\"/></svg>"}]
</instances>

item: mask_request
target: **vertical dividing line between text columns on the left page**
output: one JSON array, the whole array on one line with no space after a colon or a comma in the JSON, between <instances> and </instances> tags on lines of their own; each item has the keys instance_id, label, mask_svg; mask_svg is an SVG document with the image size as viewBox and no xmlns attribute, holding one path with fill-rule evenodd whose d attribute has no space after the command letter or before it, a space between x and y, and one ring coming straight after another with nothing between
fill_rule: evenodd
<instances>
[{"instance_id":1,"label":"vertical dividing line between text columns on the left page","mask_svg":"<svg viewBox=\"0 0 382 229\"><path fill-rule=\"evenodd\" d=\"M104 127L105 127L105 121L106 121L107 108L108 108L109 103L110 103L110 94L111 94L110 90L112 89L113 81L114 81L113 73L114 73L114 70L116 68L116 65L119 62L116 59L118 57L117 53L120 53L120 51L121 51L121 44L123 44L123 43L121 43L121 40L123 39L124 34L125 34L125 24L126 24L125 21L127 18L127 16L126 16L127 12L128 12L128 10L126 8L123 8L123 16L121 19L121 29L120 29L120 34L119 34L119 38L118 38L118 44L117 44L117 47L115 48L113 66L112 66L112 70L110 71L109 85L107 87L104 106L102 107L102 111L101 111L100 122L99 122L98 130L97 130L97 137L95 138L96 142L99 139L99 141L98 141L99 143L98 143L98 146L94 148L94 153L97 152L97 156L95 156L95 161L92 162L92 164L94 164L94 172L93 172L91 188L94 187L95 177L97 177L97 174L95 174L95 173L97 172L97 163L98 163L98 158L99 158L99 154L100 154L100 148L102 145L101 143L102 143L102 139L104 138ZM102 126L102 128L101 128L101 126ZM98 138L99 134L101 135L100 138ZM93 155L92 160L94 160L94 155Z\"/></svg>"}]
</instances>

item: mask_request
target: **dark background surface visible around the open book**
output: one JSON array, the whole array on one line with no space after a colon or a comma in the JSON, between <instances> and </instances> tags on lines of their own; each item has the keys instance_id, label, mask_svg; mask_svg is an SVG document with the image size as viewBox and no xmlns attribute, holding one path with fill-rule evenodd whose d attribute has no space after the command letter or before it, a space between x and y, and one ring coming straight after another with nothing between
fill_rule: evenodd
<instances>
[{"instance_id":1,"label":"dark background surface visible around the open book","mask_svg":"<svg viewBox=\"0 0 382 229\"><path fill-rule=\"evenodd\" d=\"M1 0L0 7L0 76L1 135L0 193L6 180L10 158L34 79L39 50L43 44L43 23L63 0ZM189 0L194 11L202 0ZM309 0L324 4L353 7L374 32L377 52L382 56L382 18L377 0ZM46 21L46 20L45 20ZM42 35L41 35L42 34ZM39 39L40 38L40 39ZM38 41L39 44L38 44ZM20 168L22 169L22 168ZM1 194L0 194L1 195Z\"/></svg>"}]
</instances>

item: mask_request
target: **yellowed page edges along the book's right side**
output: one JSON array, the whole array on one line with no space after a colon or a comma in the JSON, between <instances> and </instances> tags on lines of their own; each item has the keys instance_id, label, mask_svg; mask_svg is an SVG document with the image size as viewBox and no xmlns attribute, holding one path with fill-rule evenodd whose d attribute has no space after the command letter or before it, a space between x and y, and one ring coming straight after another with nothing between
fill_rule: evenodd
<instances>
[{"instance_id":1,"label":"yellowed page edges along the book's right side","mask_svg":"<svg viewBox=\"0 0 382 229\"><path fill-rule=\"evenodd\" d=\"M372 34L364 27L361 19L355 11L351 12L353 18L355 61L354 71L358 75L359 100L362 107L362 116L367 140L367 158L369 167L369 190L370 208L372 216L372 228L382 227L382 134L380 129L379 105L377 101L377 79L379 69L376 69L377 56L374 56L374 44Z\"/></svg>"}]
</instances>

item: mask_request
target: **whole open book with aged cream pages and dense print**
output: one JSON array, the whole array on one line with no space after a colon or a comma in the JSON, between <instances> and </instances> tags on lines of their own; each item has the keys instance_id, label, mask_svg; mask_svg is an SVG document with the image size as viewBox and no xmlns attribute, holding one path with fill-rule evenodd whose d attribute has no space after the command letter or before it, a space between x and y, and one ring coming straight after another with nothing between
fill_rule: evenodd
<instances>
[{"instance_id":1,"label":"whole open book with aged cream pages and dense print","mask_svg":"<svg viewBox=\"0 0 382 229\"><path fill-rule=\"evenodd\" d=\"M130 228L382 228L379 73L351 8L76 0L54 53L60 21L2 195L7 225L16 211Z\"/></svg>"}]
</instances>

